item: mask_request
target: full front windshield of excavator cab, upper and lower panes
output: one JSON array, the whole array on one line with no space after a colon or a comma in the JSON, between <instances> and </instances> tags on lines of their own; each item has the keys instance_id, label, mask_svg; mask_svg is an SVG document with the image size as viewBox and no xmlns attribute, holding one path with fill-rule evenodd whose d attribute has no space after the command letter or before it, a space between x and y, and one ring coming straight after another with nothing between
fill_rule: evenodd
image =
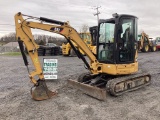
<instances>
[{"instance_id":1,"label":"full front windshield of excavator cab, upper and lower panes","mask_svg":"<svg viewBox=\"0 0 160 120\"><path fill-rule=\"evenodd\" d=\"M99 30L99 61L113 61L115 22L101 23Z\"/></svg>"}]
</instances>

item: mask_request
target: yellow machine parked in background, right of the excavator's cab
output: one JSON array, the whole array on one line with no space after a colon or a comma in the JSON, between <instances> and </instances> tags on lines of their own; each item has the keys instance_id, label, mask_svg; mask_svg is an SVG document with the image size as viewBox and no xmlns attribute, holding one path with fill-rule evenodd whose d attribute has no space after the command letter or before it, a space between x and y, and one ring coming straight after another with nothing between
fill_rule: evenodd
<instances>
[{"instance_id":1,"label":"yellow machine parked in background, right of the excavator's cab","mask_svg":"<svg viewBox=\"0 0 160 120\"><path fill-rule=\"evenodd\" d=\"M155 52L156 44L154 44L149 36L143 31L140 35L138 35L138 50L142 52Z\"/></svg>"}]
</instances>

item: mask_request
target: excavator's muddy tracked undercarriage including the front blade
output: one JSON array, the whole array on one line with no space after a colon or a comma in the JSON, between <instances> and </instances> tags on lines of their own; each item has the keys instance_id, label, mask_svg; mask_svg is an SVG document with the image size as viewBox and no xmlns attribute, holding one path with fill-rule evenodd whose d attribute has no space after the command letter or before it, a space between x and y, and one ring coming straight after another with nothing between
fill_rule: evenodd
<instances>
[{"instance_id":1,"label":"excavator's muddy tracked undercarriage including the front blade","mask_svg":"<svg viewBox=\"0 0 160 120\"><path fill-rule=\"evenodd\" d=\"M68 83L89 96L99 100L106 100L108 93L113 96L119 96L149 85L150 81L151 75L149 74L112 76L83 73L78 78L78 81L68 80Z\"/></svg>"}]
</instances>

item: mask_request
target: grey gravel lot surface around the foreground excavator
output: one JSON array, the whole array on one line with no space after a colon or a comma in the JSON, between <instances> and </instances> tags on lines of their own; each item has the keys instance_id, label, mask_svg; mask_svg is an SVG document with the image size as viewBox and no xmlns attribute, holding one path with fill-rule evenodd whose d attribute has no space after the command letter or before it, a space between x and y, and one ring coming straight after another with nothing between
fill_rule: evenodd
<instances>
[{"instance_id":1,"label":"grey gravel lot surface around the foreground excavator","mask_svg":"<svg viewBox=\"0 0 160 120\"><path fill-rule=\"evenodd\" d=\"M67 87L67 79L76 79L86 71L76 57L53 56L58 59L58 79L46 82L59 94L34 101L22 57L0 56L0 120L159 120L159 54L139 53L139 71L151 74L151 85L119 97L108 96L105 102Z\"/></svg>"}]
</instances>

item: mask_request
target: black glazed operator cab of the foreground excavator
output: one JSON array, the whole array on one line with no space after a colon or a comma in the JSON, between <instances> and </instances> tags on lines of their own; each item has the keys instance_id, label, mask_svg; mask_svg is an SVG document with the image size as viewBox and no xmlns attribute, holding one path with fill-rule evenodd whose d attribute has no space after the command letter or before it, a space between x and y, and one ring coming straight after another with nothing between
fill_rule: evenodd
<instances>
[{"instance_id":1,"label":"black glazed operator cab of the foreground excavator","mask_svg":"<svg viewBox=\"0 0 160 120\"><path fill-rule=\"evenodd\" d=\"M137 17L120 15L100 20L97 59L101 63L134 63L137 46Z\"/></svg>"}]
</instances>

